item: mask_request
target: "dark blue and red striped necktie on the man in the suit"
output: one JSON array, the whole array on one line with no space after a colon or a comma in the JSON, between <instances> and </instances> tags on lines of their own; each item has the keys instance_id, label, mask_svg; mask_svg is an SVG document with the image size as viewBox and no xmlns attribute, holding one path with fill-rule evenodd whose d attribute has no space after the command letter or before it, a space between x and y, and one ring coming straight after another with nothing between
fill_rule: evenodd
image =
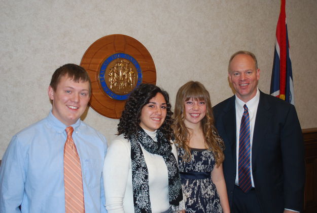
<instances>
[{"instance_id":1,"label":"dark blue and red striped necktie on the man in the suit","mask_svg":"<svg viewBox=\"0 0 317 213\"><path fill-rule=\"evenodd\" d=\"M244 104L244 112L240 125L239 136L239 187L246 193L252 188L251 182L251 169L250 169L250 157L251 157L251 144L250 144L250 118L248 107Z\"/></svg>"}]
</instances>

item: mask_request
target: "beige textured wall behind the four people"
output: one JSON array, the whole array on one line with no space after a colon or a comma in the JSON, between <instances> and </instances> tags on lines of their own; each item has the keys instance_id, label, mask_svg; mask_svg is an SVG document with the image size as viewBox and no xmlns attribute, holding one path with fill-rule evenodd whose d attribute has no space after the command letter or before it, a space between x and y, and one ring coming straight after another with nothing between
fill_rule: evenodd
<instances>
[{"instance_id":1,"label":"beige textured wall behind the four people","mask_svg":"<svg viewBox=\"0 0 317 213\"><path fill-rule=\"evenodd\" d=\"M289 0L286 8L295 87L302 128L317 127L317 4ZM188 80L201 81L213 105L232 96L230 55L244 49L258 57L259 88L269 92L279 0L226 1L10 1L0 8L0 159L11 137L45 117L52 73L80 64L97 39L125 34L152 54L157 85L174 103ZM118 120L89 109L85 122L109 140Z\"/></svg>"}]
</instances>

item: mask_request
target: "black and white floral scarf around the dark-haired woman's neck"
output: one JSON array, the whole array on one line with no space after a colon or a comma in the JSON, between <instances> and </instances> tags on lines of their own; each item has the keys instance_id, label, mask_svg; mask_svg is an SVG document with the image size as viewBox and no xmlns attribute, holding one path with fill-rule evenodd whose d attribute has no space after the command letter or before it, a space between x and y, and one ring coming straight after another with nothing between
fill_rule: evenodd
<instances>
[{"instance_id":1,"label":"black and white floral scarf around the dark-haired woman's neck","mask_svg":"<svg viewBox=\"0 0 317 213\"><path fill-rule=\"evenodd\" d=\"M134 212L150 213L149 172L140 144L151 154L163 157L168 171L168 195L171 209L177 208L183 199L177 161L172 154L170 142L156 131L157 142L142 129L129 137L131 143L132 186ZM160 196L160 195L158 195Z\"/></svg>"}]
</instances>

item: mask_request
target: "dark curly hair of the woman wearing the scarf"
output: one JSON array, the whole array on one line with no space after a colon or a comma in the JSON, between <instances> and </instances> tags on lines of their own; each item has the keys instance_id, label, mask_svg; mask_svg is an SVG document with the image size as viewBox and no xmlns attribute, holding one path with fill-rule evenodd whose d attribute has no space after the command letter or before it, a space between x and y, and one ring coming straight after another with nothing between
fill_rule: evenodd
<instances>
[{"instance_id":1,"label":"dark curly hair of the woman wearing the scarf","mask_svg":"<svg viewBox=\"0 0 317 213\"><path fill-rule=\"evenodd\" d=\"M140 116L143 107L156 96L162 94L166 102L166 118L164 123L159 128L167 140L170 140L173 135L171 125L173 123L171 106L169 103L169 96L166 91L153 84L142 83L136 87L127 102L125 103L122 112L117 135L124 135L124 138L129 138L130 135L135 134L139 130Z\"/></svg>"}]
</instances>

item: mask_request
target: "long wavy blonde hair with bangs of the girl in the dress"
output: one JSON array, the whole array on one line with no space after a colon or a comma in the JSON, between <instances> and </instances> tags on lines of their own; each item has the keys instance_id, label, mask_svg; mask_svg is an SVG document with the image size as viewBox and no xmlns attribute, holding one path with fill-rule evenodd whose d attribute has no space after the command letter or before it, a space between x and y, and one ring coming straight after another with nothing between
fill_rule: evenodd
<instances>
[{"instance_id":1,"label":"long wavy blonde hair with bangs of the girl in the dress","mask_svg":"<svg viewBox=\"0 0 317 213\"><path fill-rule=\"evenodd\" d=\"M206 115L201 120L201 128L205 144L208 150L213 151L216 164L219 166L224 161L224 142L218 135L217 129L214 125L214 115L212 110L212 103L210 96L204 85L198 81L189 81L181 86L177 92L176 103L174 109L174 135L175 144L185 150L185 155L182 158L185 161L190 161L191 153L188 146L190 133L184 124L186 118L184 102L189 99L203 100L206 104Z\"/></svg>"}]
</instances>

